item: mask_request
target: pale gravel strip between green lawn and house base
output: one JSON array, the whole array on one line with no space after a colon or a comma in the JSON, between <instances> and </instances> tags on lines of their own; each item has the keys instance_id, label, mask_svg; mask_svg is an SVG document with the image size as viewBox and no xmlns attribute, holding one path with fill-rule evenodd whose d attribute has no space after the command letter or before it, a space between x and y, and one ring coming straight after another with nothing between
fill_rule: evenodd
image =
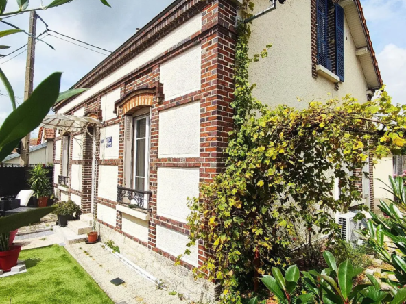
<instances>
[{"instance_id":1,"label":"pale gravel strip between green lawn and house base","mask_svg":"<svg viewBox=\"0 0 406 304\"><path fill-rule=\"evenodd\" d=\"M172 290L157 289L156 284L141 276L121 260L103 249L102 244L71 244L67 251L93 277L99 286L115 303L127 304L188 304L178 296L171 296ZM110 280L119 277L126 283L115 286Z\"/></svg>"}]
</instances>

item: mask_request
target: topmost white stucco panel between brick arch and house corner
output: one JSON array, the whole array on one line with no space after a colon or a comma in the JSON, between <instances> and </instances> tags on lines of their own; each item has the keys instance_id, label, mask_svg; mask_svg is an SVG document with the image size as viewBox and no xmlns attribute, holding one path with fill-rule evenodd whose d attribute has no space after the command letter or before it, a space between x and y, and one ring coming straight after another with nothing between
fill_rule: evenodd
<instances>
[{"instance_id":1,"label":"topmost white stucco panel between brick arch and house corner","mask_svg":"<svg viewBox=\"0 0 406 304\"><path fill-rule=\"evenodd\" d=\"M200 90L202 50L200 45L181 53L160 66L165 100Z\"/></svg>"}]
</instances>

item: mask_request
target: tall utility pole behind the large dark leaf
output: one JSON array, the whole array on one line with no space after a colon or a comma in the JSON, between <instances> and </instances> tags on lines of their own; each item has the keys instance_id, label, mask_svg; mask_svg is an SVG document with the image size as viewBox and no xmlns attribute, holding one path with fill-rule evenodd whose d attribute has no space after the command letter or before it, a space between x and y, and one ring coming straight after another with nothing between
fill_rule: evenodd
<instances>
[{"instance_id":1,"label":"tall utility pole behind the large dark leaf","mask_svg":"<svg viewBox=\"0 0 406 304\"><path fill-rule=\"evenodd\" d=\"M26 101L29 95L32 94L34 90L34 61L35 61L35 36L36 36L36 18L37 14L32 11L29 14L29 34L28 36L28 48L27 48L27 65L25 68L25 85L24 85L24 101ZM20 151L20 165L29 166L29 136L27 134L23 140L21 140L21 151Z\"/></svg>"}]
</instances>

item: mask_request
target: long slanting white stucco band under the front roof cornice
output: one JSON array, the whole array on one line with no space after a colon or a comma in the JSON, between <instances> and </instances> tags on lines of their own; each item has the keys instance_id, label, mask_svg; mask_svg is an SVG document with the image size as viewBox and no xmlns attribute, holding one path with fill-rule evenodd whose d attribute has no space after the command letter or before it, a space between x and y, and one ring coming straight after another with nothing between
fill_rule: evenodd
<instances>
[{"instance_id":1,"label":"long slanting white stucco band under the front roof cornice","mask_svg":"<svg viewBox=\"0 0 406 304\"><path fill-rule=\"evenodd\" d=\"M73 101L61 107L58 110L58 113L65 113L69 111L70 109L72 109L76 105L79 105L80 103L82 103L89 97L93 96L97 92L100 92L110 84L114 83L115 81L118 81L119 79L121 79L121 77L124 77L129 73L132 73L137 68L141 67L143 64L146 64L150 60L156 58L156 56L160 55L161 53L164 53L171 47L178 45L178 43L182 42L182 40L192 36L197 31L200 31L200 29L202 29L202 15L197 14L189 21L180 25L180 27L174 29L174 31L171 31L164 38L158 40L158 42L156 42L154 45L152 45L145 51L141 52L130 62L121 66L121 68L117 69L117 71L111 73L110 75L108 75L108 77L99 81L94 86L91 86L91 88L89 88L86 92L83 92L82 94L80 94L80 96L73 99Z\"/></svg>"}]
</instances>

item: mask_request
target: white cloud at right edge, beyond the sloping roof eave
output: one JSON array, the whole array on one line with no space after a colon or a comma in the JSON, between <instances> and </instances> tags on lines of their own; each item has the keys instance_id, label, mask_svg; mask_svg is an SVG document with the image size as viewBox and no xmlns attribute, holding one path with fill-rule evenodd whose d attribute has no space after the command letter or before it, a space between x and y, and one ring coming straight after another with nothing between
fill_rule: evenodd
<instances>
[{"instance_id":1,"label":"white cloud at right edge, beyond the sloping roof eave","mask_svg":"<svg viewBox=\"0 0 406 304\"><path fill-rule=\"evenodd\" d=\"M386 45L377 57L383 82L393 103L406 104L406 49L394 44Z\"/></svg>"}]
</instances>

